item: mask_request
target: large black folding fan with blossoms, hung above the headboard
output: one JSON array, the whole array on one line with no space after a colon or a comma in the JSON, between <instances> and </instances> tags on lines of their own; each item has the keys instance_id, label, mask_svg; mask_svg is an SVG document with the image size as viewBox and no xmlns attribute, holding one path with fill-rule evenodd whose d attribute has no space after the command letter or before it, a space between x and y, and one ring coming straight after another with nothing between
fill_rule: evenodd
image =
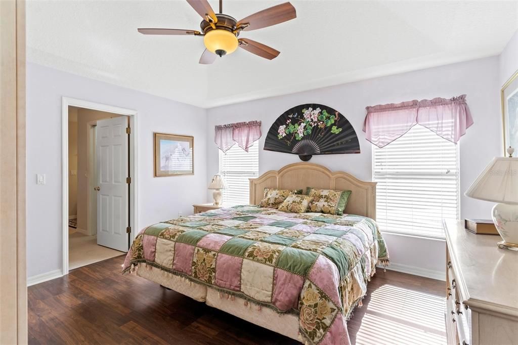
<instances>
[{"instance_id":1,"label":"large black folding fan with blossoms, hung above the headboard","mask_svg":"<svg viewBox=\"0 0 518 345\"><path fill-rule=\"evenodd\" d=\"M360 153L351 123L322 104L302 104L285 111L271 125L264 149L297 154L305 162L318 154Z\"/></svg>"}]
</instances>

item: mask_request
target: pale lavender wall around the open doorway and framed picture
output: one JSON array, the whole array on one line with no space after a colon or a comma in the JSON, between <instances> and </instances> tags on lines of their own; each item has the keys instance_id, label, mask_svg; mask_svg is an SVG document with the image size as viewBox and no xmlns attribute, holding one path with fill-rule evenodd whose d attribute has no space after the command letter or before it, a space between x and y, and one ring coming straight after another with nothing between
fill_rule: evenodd
<instances>
[{"instance_id":1,"label":"pale lavender wall around the open doorway and framed picture","mask_svg":"<svg viewBox=\"0 0 518 345\"><path fill-rule=\"evenodd\" d=\"M174 81L171 81L174 82ZM61 97L138 111L138 227L206 202L206 110L27 64L27 276L62 265ZM153 177L153 132L194 136L194 176ZM37 185L36 174L47 184Z\"/></svg>"}]
</instances>

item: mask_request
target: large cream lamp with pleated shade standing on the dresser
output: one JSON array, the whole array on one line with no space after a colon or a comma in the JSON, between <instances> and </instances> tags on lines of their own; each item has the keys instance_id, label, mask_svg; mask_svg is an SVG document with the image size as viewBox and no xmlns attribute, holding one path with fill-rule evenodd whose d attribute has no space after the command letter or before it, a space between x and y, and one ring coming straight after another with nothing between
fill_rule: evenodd
<instances>
[{"instance_id":1,"label":"large cream lamp with pleated shade standing on the dresser","mask_svg":"<svg viewBox=\"0 0 518 345\"><path fill-rule=\"evenodd\" d=\"M495 157L465 193L471 198L498 203L493 207L493 222L503 238L499 248L518 248L518 158L511 154Z\"/></svg>"}]
</instances>

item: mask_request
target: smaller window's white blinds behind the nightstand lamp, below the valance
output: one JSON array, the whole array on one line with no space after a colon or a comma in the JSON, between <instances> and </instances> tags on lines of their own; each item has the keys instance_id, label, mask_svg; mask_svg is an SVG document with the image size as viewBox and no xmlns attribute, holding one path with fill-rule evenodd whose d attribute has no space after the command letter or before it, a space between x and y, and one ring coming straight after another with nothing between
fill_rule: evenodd
<instances>
[{"instance_id":1,"label":"smaller window's white blinds behind the nightstand lamp, below the valance","mask_svg":"<svg viewBox=\"0 0 518 345\"><path fill-rule=\"evenodd\" d=\"M234 145L226 153L220 150L220 174L227 188L223 190L223 202L231 205L250 203L250 178L259 176L259 145L254 143L248 152Z\"/></svg>"}]
</instances>

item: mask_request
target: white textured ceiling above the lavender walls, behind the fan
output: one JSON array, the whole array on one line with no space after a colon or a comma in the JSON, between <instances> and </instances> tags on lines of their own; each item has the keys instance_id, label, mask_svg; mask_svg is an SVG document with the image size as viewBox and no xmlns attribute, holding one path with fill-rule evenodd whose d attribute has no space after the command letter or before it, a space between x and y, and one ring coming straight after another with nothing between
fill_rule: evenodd
<instances>
[{"instance_id":1,"label":"white textured ceiling above the lavender walls, behind the fan","mask_svg":"<svg viewBox=\"0 0 518 345\"><path fill-rule=\"evenodd\" d=\"M214 10L218 2L209 0ZM237 20L277 1L223 0ZM178 1L28 1L27 60L201 107L496 55L518 28L518 1L291 1L295 20L243 32L281 54L242 49L199 65L203 38Z\"/></svg>"}]
</instances>

